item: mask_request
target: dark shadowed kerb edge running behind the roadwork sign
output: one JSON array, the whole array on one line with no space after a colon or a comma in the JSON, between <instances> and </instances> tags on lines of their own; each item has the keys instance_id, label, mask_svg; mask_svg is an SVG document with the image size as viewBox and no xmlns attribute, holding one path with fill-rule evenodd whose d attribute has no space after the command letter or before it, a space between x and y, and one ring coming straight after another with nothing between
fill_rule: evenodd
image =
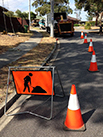
<instances>
[{"instance_id":1,"label":"dark shadowed kerb edge running behind the roadwork sign","mask_svg":"<svg viewBox=\"0 0 103 137\"><path fill-rule=\"evenodd\" d=\"M52 55L57 49L57 42L55 43L54 49L51 51L51 53L48 55L48 57L44 60L44 62L41 64L42 66L45 66L46 63L51 59ZM21 95L18 95L16 93L12 93L11 95L8 96L8 101L6 104L7 110L12 106L12 104L20 97ZM1 103L0 105L0 117L3 116L4 114L4 107L5 107L5 101Z\"/></svg>"}]
</instances>

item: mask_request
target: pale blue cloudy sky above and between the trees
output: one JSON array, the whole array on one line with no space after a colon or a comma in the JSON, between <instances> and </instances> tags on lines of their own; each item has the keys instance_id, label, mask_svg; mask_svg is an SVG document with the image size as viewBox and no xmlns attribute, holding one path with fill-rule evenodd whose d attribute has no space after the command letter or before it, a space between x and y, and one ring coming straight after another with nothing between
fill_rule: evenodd
<instances>
[{"instance_id":1,"label":"pale blue cloudy sky above and between the trees","mask_svg":"<svg viewBox=\"0 0 103 137\"><path fill-rule=\"evenodd\" d=\"M31 3L33 3L34 0L31 0ZM69 0L70 2L70 8L72 8L72 10L75 9L75 2L74 0ZM15 12L17 9L23 11L29 11L29 0L0 0L0 6L4 6L5 8L7 8L10 11ZM35 8L31 6L31 11L35 12ZM86 15L87 13L83 11L81 11L81 20L82 21L86 21ZM69 14L69 16L76 18L76 14L73 11L73 14Z\"/></svg>"}]
</instances>

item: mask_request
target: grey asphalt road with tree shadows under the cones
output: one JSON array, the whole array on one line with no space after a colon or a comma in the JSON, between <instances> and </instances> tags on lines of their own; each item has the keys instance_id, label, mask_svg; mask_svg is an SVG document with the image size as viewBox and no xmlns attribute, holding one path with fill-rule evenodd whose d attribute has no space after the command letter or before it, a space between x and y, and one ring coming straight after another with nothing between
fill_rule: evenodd
<instances>
[{"instance_id":1,"label":"grey asphalt road with tree shadows under the cones","mask_svg":"<svg viewBox=\"0 0 103 137\"><path fill-rule=\"evenodd\" d=\"M96 61L99 72L88 72L92 53L88 52L89 43L84 44L80 39L80 32L75 32L73 37L59 37L60 51L55 60L65 97L54 97L53 119L50 121L30 114L16 115L0 132L0 137L102 137L103 136L103 36L88 33L88 41L92 38L96 52ZM72 84L80 103L86 131L64 131L68 99ZM61 92L60 83L55 73L55 90ZM29 97L20 106L19 111L35 111L38 103L46 97ZM19 105L20 101L18 102ZM37 113L49 115L48 103L36 109ZM8 117L9 119L9 117Z\"/></svg>"}]
</instances>

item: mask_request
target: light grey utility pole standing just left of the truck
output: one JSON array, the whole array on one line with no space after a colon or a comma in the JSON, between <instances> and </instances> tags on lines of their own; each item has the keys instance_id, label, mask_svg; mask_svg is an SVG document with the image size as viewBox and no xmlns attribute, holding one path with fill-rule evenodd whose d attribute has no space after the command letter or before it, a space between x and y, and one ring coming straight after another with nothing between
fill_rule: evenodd
<instances>
[{"instance_id":1,"label":"light grey utility pole standing just left of the truck","mask_svg":"<svg viewBox=\"0 0 103 137\"><path fill-rule=\"evenodd\" d=\"M51 0L51 28L50 37L54 37L54 0Z\"/></svg>"}]
</instances>

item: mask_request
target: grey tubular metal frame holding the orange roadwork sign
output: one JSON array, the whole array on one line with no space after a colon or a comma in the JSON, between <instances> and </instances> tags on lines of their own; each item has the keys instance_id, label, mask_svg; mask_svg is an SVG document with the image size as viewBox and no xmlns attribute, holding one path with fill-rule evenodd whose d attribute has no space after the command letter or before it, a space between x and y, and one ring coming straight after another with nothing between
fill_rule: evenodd
<instances>
[{"instance_id":1,"label":"grey tubular metal frame holding the orange roadwork sign","mask_svg":"<svg viewBox=\"0 0 103 137\"><path fill-rule=\"evenodd\" d=\"M43 115L39 115L37 113L33 113L33 112L30 112L30 111L24 111L24 112L18 112L18 113L7 113L7 100L8 100L8 89L9 89L9 82L10 82L10 74L11 74L11 70L18 70L18 69L38 69L38 70L50 70L51 69L51 74L52 74L52 94L50 95L51 97L49 97L46 101L48 101L50 98L51 98L51 104L50 104L50 116L49 117L46 117L46 116L43 116ZM13 115L18 115L18 114L31 114L31 115L35 115L37 117L40 117L40 118L43 118L43 119L46 119L46 120L50 120L52 119L52 115L53 115L53 92L54 92L54 69L55 67L54 66L34 66L34 67L21 67L21 66L18 66L18 67L15 67L15 66L10 66L9 67L9 70L8 70L8 79L7 79L7 91L6 91L6 99L5 99L5 107L4 107L4 114L6 116L13 116ZM35 70L34 70L35 71ZM56 72L57 72L57 75L58 75L58 79L59 79L59 82L60 82L60 85L61 85L61 89L62 89L62 92L63 92L63 95L56 95L56 96L59 96L59 97L64 97L65 96L65 93L64 93L64 90L63 90L63 86L62 86L62 83L61 83L61 80L60 80L60 77L59 77L59 73L56 69ZM13 81L14 82L14 81ZM54 92L55 93L55 92ZM31 94L29 94L31 95ZM32 96L32 95L31 95ZM46 102L44 101L44 102ZM41 104L42 105L42 104Z\"/></svg>"}]
</instances>

